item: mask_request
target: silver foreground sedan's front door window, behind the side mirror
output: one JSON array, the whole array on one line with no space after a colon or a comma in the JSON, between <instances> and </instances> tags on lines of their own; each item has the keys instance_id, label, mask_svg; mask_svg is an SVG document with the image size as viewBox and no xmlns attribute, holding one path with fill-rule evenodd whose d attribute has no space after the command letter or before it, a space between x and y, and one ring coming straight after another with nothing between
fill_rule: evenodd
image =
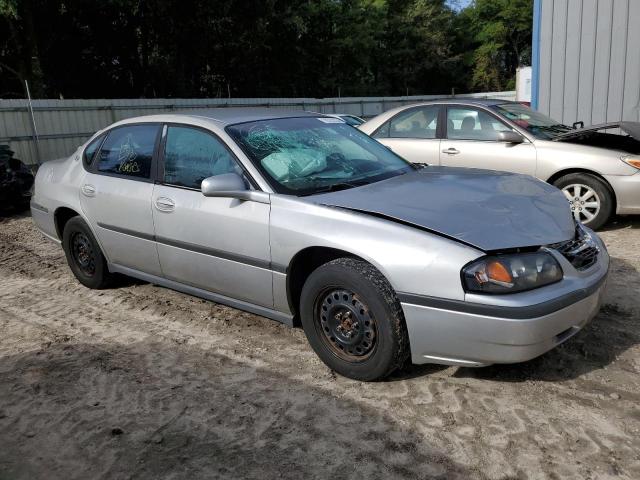
<instances>
[{"instance_id":1,"label":"silver foreground sedan's front door window, behind the side mirror","mask_svg":"<svg viewBox=\"0 0 640 480\"><path fill-rule=\"evenodd\" d=\"M164 183L200 188L202 180L242 169L222 142L210 133L170 126L164 151Z\"/></svg>"}]
</instances>

